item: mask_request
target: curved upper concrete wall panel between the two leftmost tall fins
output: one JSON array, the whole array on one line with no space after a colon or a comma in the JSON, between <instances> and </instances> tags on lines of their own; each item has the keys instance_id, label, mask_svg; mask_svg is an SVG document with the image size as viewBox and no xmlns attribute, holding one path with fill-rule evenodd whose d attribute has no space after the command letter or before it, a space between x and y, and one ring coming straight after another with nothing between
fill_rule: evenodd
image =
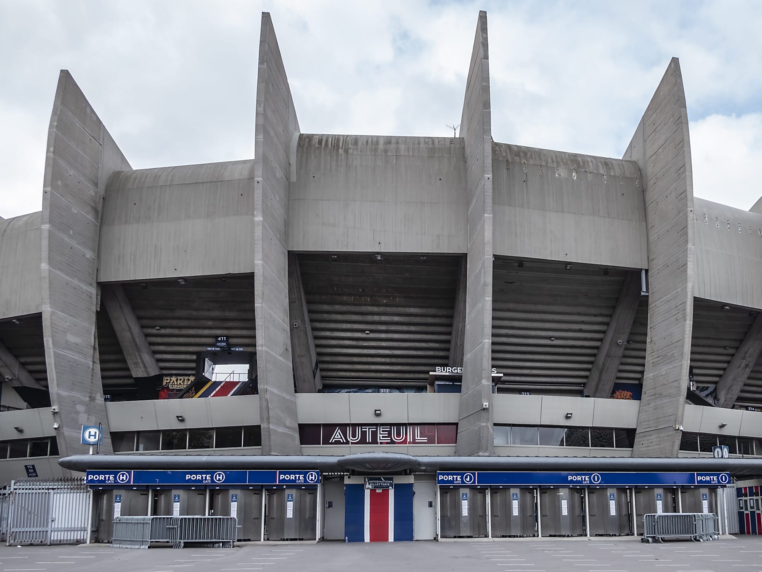
<instances>
[{"instance_id":1,"label":"curved upper concrete wall panel between the two leftmost tall fins","mask_svg":"<svg viewBox=\"0 0 762 572\"><path fill-rule=\"evenodd\" d=\"M98 281L254 272L253 177L251 159L115 173Z\"/></svg>"}]
</instances>

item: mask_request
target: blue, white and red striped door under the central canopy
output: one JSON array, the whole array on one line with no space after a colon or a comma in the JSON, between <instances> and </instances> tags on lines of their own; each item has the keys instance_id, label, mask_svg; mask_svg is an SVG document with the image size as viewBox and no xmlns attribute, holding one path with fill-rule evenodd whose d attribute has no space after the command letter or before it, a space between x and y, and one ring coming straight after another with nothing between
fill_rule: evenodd
<instances>
[{"instance_id":1,"label":"blue, white and red striped door under the central canopy","mask_svg":"<svg viewBox=\"0 0 762 572\"><path fill-rule=\"evenodd\" d=\"M392 542L413 539L413 485L366 489L344 485L344 535L350 542Z\"/></svg>"}]
</instances>

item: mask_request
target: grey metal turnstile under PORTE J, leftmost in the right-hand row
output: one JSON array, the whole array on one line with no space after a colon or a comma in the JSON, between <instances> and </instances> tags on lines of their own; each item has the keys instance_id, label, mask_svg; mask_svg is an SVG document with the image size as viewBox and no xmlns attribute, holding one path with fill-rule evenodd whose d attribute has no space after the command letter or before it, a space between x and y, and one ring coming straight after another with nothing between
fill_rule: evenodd
<instances>
[{"instance_id":1,"label":"grey metal turnstile under PORTE J, leftmost in the right-hand row","mask_svg":"<svg viewBox=\"0 0 762 572\"><path fill-rule=\"evenodd\" d=\"M487 535L487 489L440 487L439 498L442 538Z\"/></svg>"}]
</instances>

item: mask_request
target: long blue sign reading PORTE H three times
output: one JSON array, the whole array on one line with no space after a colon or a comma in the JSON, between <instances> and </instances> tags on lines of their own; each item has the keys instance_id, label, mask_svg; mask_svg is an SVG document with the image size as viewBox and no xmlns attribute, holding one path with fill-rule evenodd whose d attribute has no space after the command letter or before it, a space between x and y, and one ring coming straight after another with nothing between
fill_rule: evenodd
<instances>
[{"instance_id":1,"label":"long blue sign reading PORTE H three times","mask_svg":"<svg viewBox=\"0 0 762 572\"><path fill-rule=\"evenodd\" d=\"M320 471L87 471L85 483L109 485L318 484Z\"/></svg>"}]
</instances>

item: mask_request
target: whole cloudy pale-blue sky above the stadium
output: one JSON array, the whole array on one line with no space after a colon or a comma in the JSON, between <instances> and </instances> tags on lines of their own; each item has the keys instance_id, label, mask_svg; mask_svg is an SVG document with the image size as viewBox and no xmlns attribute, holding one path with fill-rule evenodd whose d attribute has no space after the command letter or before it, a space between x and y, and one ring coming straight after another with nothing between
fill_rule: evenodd
<instances>
[{"instance_id":1,"label":"whole cloudy pale-blue sky above the stadium","mask_svg":"<svg viewBox=\"0 0 762 572\"><path fill-rule=\"evenodd\" d=\"M261 11L305 133L448 134L488 11L492 136L620 157L680 58L696 196L762 195L762 3L0 0L0 216L41 208L69 69L133 168L253 156Z\"/></svg>"}]
</instances>

